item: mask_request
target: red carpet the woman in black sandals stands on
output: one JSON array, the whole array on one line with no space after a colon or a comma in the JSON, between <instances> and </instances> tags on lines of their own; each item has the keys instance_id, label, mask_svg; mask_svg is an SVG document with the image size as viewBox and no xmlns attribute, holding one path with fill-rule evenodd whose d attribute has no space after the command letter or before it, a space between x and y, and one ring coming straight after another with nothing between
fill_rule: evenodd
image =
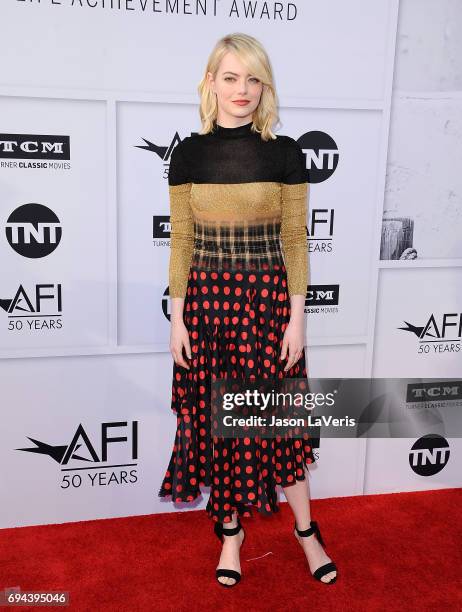
<instances>
[{"instance_id":1,"label":"red carpet the woman in black sandals stands on","mask_svg":"<svg viewBox=\"0 0 462 612\"><path fill-rule=\"evenodd\" d=\"M0 589L69 591L53 609L92 612L461 610L461 506L461 489L314 500L339 568L331 586L309 575L286 503L242 520L233 589L215 581L220 543L204 510L3 529Z\"/></svg>"}]
</instances>

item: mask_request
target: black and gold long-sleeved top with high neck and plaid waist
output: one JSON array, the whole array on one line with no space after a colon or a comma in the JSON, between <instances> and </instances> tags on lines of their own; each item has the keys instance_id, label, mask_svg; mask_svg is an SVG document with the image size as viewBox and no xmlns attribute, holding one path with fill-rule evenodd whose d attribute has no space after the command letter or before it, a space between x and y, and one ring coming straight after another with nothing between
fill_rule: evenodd
<instances>
[{"instance_id":1,"label":"black and gold long-sleeved top with high neck and plaid waist","mask_svg":"<svg viewBox=\"0 0 462 612\"><path fill-rule=\"evenodd\" d=\"M289 295L308 284L305 156L296 140L267 142L252 122L181 141L170 160L170 297L185 297L191 265L285 265Z\"/></svg>"}]
</instances>

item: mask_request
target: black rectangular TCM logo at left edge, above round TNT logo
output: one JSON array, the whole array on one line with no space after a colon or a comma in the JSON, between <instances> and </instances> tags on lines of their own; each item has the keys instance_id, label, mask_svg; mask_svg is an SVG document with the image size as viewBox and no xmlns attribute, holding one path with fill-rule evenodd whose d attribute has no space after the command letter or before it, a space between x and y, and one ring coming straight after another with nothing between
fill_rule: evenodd
<instances>
[{"instance_id":1,"label":"black rectangular TCM logo at left edge, above round TNT logo","mask_svg":"<svg viewBox=\"0 0 462 612\"><path fill-rule=\"evenodd\" d=\"M0 134L0 159L70 159L69 136Z\"/></svg>"}]
</instances>

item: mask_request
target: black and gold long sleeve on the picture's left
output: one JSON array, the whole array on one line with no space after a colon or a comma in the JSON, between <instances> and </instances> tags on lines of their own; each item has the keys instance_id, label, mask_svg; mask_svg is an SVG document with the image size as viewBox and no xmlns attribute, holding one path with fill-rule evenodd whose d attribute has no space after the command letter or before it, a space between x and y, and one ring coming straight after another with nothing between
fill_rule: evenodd
<instances>
[{"instance_id":1,"label":"black and gold long sleeve on the picture's left","mask_svg":"<svg viewBox=\"0 0 462 612\"><path fill-rule=\"evenodd\" d=\"M186 296L194 247L194 219L190 206L191 185L182 153L182 143L172 152L168 174L170 199L170 297Z\"/></svg>"}]
</instances>

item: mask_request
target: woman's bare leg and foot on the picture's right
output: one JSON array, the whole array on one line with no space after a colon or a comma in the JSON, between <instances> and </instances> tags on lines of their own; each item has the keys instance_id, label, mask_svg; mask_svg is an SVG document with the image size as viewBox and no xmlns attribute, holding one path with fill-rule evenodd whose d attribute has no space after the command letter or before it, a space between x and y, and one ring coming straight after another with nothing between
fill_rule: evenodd
<instances>
[{"instance_id":1,"label":"woman's bare leg and foot on the picture's right","mask_svg":"<svg viewBox=\"0 0 462 612\"><path fill-rule=\"evenodd\" d=\"M300 530L308 529L311 521L309 472L306 466L303 467L305 469L305 480L297 480L294 485L283 487L289 506L294 513L297 527ZM311 573L315 572L321 565L331 561L331 558L326 555L324 548L314 534L307 538L300 538L297 534L297 540L303 546ZM334 578L336 575L337 572L329 572L321 580L323 582L330 582L331 578Z\"/></svg>"}]
</instances>

